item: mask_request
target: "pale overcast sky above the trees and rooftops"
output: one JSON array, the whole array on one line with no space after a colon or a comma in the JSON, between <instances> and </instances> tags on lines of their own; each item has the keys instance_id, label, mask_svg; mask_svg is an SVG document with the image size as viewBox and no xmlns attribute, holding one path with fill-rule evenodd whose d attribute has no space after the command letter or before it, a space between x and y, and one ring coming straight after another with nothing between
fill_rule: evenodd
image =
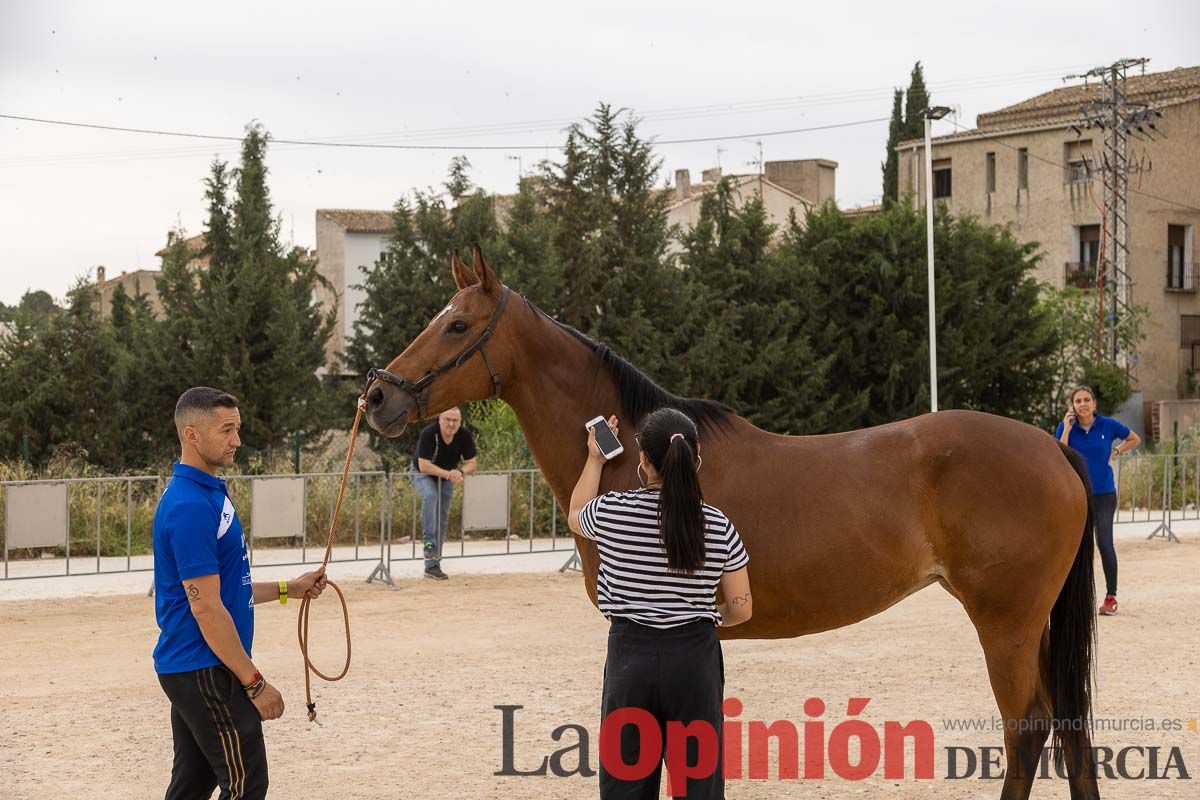
<instances>
[{"instance_id":1,"label":"pale overcast sky above the trees and rooftops","mask_svg":"<svg viewBox=\"0 0 1200 800\"><path fill-rule=\"evenodd\" d=\"M659 148L664 175L698 180L718 158L751 172L756 134L886 118L918 59L934 101L973 126L1118 58L1200 65L1198 30L1195 0L0 0L0 114L226 136L257 119L276 138L534 148L275 145L284 236L312 247L316 209L390 207L440 186L458 152L485 190L514 191L518 164L545 148L554 157L565 125L599 101L632 109L660 140L736 137ZM878 199L886 138L887 122L871 122L761 142L768 161L836 161L838 200L852 206ZM61 297L100 264L157 267L168 229L200 233L215 155L235 160L236 143L0 119L0 301Z\"/></svg>"}]
</instances>

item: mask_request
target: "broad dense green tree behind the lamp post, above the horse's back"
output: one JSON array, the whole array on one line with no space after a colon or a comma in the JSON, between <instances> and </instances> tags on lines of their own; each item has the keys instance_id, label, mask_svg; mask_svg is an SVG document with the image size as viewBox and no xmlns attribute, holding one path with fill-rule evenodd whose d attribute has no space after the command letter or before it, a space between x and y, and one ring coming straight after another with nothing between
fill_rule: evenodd
<instances>
[{"instance_id":1,"label":"broad dense green tree behind the lamp post, above the horse's back","mask_svg":"<svg viewBox=\"0 0 1200 800\"><path fill-rule=\"evenodd\" d=\"M944 210L935 223L938 396L1033 421L1052 381L1052 319L1038 302L1036 245ZM881 425L929 409L923 215L898 203L854 224L832 204L793 225L782 246L814 291L805 313L829 371L833 429ZM865 404L862 398L866 398Z\"/></svg>"}]
</instances>

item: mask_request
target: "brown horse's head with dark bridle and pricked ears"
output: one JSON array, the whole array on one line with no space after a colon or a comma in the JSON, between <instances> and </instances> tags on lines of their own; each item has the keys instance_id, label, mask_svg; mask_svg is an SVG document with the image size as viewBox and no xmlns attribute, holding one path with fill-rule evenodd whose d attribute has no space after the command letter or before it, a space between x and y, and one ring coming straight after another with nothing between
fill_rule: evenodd
<instances>
[{"instance_id":1,"label":"brown horse's head with dark bridle and pricked ears","mask_svg":"<svg viewBox=\"0 0 1200 800\"><path fill-rule=\"evenodd\" d=\"M500 393L512 349L497 335L510 290L475 245L474 266L455 251L450 260L458 291L403 353L372 369L366 390L367 422L385 437L461 403Z\"/></svg>"}]
</instances>

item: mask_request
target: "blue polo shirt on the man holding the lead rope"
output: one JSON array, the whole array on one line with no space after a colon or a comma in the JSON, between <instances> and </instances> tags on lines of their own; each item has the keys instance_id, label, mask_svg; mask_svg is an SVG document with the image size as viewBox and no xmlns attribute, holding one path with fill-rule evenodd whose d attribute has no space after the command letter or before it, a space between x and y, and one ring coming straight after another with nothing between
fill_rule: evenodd
<instances>
[{"instance_id":1,"label":"blue polo shirt on the man holding the lead rope","mask_svg":"<svg viewBox=\"0 0 1200 800\"><path fill-rule=\"evenodd\" d=\"M221 603L250 655L254 588L241 521L224 481L176 462L154 515L155 615L160 631L154 667L160 674L221 663L204 640L184 594L184 581L203 575L221 577Z\"/></svg>"}]
</instances>

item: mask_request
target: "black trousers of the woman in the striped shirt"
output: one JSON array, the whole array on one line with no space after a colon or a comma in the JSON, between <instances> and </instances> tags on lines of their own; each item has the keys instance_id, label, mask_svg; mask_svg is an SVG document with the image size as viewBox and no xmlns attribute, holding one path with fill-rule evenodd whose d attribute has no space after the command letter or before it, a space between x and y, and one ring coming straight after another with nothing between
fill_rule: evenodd
<instances>
[{"instance_id":1,"label":"black trousers of the woman in the striped shirt","mask_svg":"<svg viewBox=\"0 0 1200 800\"><path fill-rule=\"evenodd\" d=\"M601 726L618 709L644 709L658 723L662 753L646 777L622 780L610 772L611 764L606 764L606 753L601 752L600 798L656 800L662 777L662 758L667 751L667 722L688 724L697 721L706 722L714 732L715 769L710 775L688 778L686 786L672 784L671 790L673 796L685 795L688 800L724 798L724 694L725 661L716 626L712 621L697 620L671 628L654 628L626 619L613 619L608 630L608 658L604 670ZM628 724L622 728L620 760L624 764L634 765L640 762L641 739L637 726ZM700 740L689 736L686 765L697 766L700 756ZM712 763L713 756L709 751L704 760Z\"/></svg>"}]
</instances>

